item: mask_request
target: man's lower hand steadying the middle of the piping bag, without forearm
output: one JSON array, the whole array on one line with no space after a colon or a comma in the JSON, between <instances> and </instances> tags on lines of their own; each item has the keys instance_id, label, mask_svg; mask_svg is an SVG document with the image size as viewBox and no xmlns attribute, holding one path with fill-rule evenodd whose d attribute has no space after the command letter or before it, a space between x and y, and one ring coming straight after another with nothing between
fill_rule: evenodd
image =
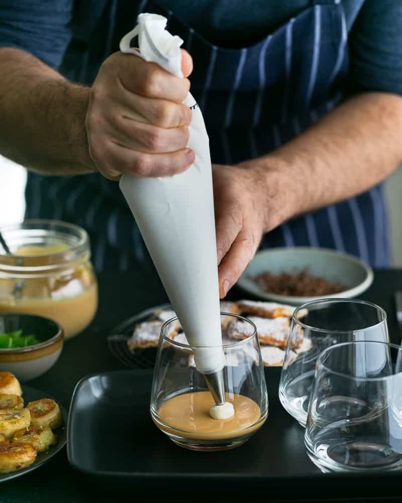
<instances>
[{"instance_id":1,"label":"man's lower hand steadying the middle of the piping bag, without forearm","mask_svg":"<svg viewBox=\"0 0 402 503\"><path fill-rule=\"evenodd\" d=\"M219 293L225 297L272 228L270 190L259 168L213 165Z\"/></svg>"}]
</instances>

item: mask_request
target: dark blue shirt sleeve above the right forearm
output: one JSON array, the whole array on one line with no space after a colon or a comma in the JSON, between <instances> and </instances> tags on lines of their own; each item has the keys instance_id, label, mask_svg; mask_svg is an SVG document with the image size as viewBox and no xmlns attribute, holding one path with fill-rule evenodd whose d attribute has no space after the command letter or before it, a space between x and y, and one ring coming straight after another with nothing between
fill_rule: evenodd
<instances>
[{"instance_id":1,"label":"dark blue shirt sleeve above the right forearm","mask_svg":"<svg viewBox=\"0 0 402 503\"><path fill-rule=\"evenodd\" d=\"M402 0L366 0L349 49L354 91L402 95Z\"/></svg>"}]
</instances>

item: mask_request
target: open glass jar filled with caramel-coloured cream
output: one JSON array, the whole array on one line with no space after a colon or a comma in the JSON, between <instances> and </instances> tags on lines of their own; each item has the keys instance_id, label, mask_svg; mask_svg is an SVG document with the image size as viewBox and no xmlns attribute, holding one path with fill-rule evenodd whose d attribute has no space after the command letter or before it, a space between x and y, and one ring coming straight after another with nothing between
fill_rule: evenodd
<instances>
[{"instance_id":1,"label":"open glass jar filled with caramel-coloured cream","mask_svg":"<svg viewBox=\"0 0 402 503\"><path fill-rule=\"evenodd\" d=\"M57 220L3 226L11 254L0 246L0 313L52 318L65 338L76 336L97 309L96 277L88 234Z\"/></svg>"}]
</instances>

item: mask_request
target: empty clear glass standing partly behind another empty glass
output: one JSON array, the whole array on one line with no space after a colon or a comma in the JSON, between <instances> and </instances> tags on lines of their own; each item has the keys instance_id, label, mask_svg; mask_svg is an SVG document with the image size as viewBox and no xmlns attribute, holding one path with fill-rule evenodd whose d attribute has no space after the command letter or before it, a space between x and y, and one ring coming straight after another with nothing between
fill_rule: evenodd
<instances>
[{"instance_id":1,"label":"empty clear glass standing partly behind another empty glass","mask_svg":"<svg viewBox=\"0 0 402 503\"><path fill-rule=\"evenodd\" d=\"M319 354L334 344L353 341L389 342L386 313L356 299L324 299L298 307L290 324L279 400L303 427Z\"/></svg>"}]
</instances>

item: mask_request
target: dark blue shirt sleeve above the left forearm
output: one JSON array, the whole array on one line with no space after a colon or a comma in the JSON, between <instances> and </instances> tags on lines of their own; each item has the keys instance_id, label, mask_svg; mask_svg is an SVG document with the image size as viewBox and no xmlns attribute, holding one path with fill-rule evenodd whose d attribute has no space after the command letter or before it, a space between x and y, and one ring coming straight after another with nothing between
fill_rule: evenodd
<instances>
[{"instance_id":1,"label":"dark blue shirt sleeve above the left forearm","mask_svg":"<svg viewBox=\"0 0 402 503\"><path fill-rule=\"evenodd\" d=\"M0 0L0 47L30 52L58 68L71 40L73 0Z\"/></svg>"}]
</instances>

